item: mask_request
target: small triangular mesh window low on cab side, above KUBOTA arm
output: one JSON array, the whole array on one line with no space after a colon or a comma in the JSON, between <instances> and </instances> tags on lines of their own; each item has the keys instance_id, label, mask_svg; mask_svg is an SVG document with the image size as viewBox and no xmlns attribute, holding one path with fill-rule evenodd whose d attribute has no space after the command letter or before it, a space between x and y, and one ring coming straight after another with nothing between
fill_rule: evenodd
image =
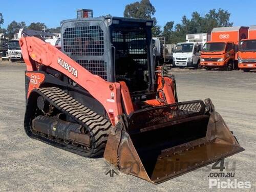
<instances>
[{"instance_id":1,"label":"small triangular mesh window low on cab side, above KUBOTA arm","mask_svg":"<svg viewBox=\"0 0 256 192\"><path fill-rule=\"evenodd\" d=\"M76 62L92 74L107 80L106 63L103 60L77 60Z\"/></svg>"}]
</instances>

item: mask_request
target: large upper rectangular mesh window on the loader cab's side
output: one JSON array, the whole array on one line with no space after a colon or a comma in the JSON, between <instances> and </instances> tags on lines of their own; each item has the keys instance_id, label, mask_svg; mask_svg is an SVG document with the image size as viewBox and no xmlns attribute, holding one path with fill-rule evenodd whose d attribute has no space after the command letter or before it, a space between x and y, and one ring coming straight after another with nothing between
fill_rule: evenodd
<instances>
[{"instance_id":1,"label":"large upper rectangular mesh window on the loader cab's side","mask_svg":"<svg viewBox=\"0 0 256 192\"><path fill-rule=\"evenodd\" d=\"M101 56L104 38L100 26L67 28L63 33L63 49L72 55Z\"/></svg>"}]
</instances>

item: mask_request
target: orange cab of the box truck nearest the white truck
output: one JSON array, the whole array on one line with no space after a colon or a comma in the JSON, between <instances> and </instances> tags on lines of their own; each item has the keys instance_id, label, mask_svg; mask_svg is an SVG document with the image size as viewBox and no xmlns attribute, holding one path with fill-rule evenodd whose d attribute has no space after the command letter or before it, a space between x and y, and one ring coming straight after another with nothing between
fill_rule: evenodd
<instances>
[{"instance_id":1,"label":"orange cab of the box truck nearest the white truck","mask_svg":"<svg viewBox=\"0 0 256 192\"><path fill-rule=\"evenodd\" d=\"M234 42L206 42L201 53L201 66L206 70L215 67L232 70L234 69L235 57Z\"/></svg>"}]
</instances>

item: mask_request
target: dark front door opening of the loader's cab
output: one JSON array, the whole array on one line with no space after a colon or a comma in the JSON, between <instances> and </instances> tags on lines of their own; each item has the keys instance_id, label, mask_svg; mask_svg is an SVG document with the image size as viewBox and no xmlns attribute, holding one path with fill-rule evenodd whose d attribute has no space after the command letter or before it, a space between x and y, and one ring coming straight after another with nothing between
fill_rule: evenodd
<instances>
[{"instance_id":1,"label":"dark front door opening of the loader's cab","mask_svg":"<svg viewBox=\"0 0 256 192\"><path fill-rule=\"evenodd\" d=\"M149 90L151 83L152 23L137 20L115 19L110 26L115 81L124 81L130 92Z\"/></svg>"}]
</instances>

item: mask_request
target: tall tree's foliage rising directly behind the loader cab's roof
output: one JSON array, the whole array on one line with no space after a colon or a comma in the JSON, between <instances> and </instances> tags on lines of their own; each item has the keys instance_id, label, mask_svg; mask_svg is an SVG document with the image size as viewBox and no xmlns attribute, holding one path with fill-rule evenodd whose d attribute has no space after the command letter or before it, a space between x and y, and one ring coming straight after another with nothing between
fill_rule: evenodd
<instances>
[{"instance_id":1,"label":"tall tree's foliage rising directly behind the loader cab's roof","mask_svg":"<svg viewBox=\"0 0 256 192\"><path fill-rule=\"evenodd\" d=\"M150 0L141 0L125 6L123 16L129 18L144 18L153 19L155 26L152 29L153 36L158 36L161 33L161 27L157 25L156 17L153 17L156 13L155 7L151 4Z\"/></svg>"}]
</instances>

